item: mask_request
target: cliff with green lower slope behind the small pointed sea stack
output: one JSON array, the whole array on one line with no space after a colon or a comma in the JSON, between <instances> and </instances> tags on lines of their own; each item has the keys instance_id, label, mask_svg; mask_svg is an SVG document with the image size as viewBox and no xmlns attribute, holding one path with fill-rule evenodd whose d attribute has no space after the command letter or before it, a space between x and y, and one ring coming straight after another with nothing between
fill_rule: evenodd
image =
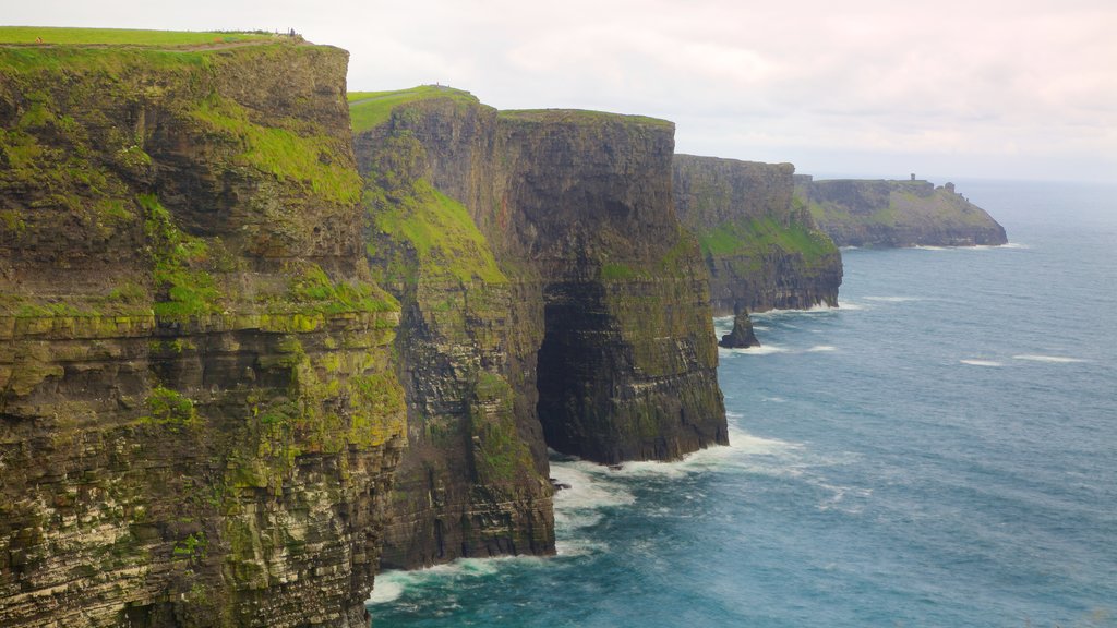
<instances>
[{"instance_id":1,"label":"cliff with green lower slope behind the small pointed sea stack","mask_svg":"<svg viewBox=\"0 0 1117 628\"><path fill-rule=\"evenodd\" d=\"M793 173L790 163L675 155L675 203L698 236L716 314L837 305L841 255L793 203Z\"/></svg>"}]
</instances>

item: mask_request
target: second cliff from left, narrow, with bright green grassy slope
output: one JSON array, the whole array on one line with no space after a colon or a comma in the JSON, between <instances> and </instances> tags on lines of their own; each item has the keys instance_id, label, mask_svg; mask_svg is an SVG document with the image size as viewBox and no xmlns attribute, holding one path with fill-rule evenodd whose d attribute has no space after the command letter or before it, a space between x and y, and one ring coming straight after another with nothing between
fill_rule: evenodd
<instances>
[{"instance_id":1,"label":"second cliff from left, narrow, with bright green grassy slope","mask_svg":"<svg viewBox=\"0 0 1117 628\"><path fill-rule=\"evenodd\" d=\"M367 255L403 305L397 368L410 446L382 564L553 553L534 411L538 332L518 316L523 288L467 209L432 184L460 197L489 182L474 169L489 159L478 152L491 142L496 112L449 89L351 99L372 219Z\"/></svg>"}]
</instances>

